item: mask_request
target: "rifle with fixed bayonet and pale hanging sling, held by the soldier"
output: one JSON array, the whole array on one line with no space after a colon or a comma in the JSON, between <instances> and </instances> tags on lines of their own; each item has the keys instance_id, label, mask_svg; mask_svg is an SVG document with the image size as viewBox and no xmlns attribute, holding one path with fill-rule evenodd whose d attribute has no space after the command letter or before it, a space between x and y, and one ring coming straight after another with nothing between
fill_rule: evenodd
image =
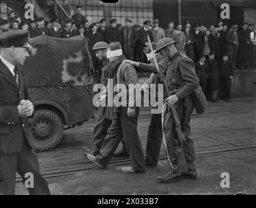
<instances>
[{"instance_id":1,"label":"rifle with fixed bayonet and pale hanging sling, held by the soldier","mask_svg":"<svg viewBox=\"0 0 256 208\"><path fill-rule=\"evenodd\" d=\"M148 36L148 44L150 45L150 49L151 49L151 51L153 53L153 47L152 47L152 43L151 43L151 40L150 40L150 36ZM163 73L163 70L161 70L159 68L159 66L157 64L157 59L155 57L155 53L153 53L153 60L155 62L155 66L157 68L157 72L159 73L159 76L161 77L161 80L163 81L163 83L165 85L168 97L170 97L170 96L172 96L172 94L170 93L170 90L168 88L167 81L165 79L165 74ZM175 92L175 89L173 89L173 90ZM176 165L172 164L172 162L170 161L170 157L169 157L168 151L167 151L167 144L166 144L166 140L165 140L165 134L163 132L163 142L164 142L164 145L165 145L165 151L167 152L168 162L169 162L169 164L170 164L172 169L175 169L175 170L179 169L179 172L187 172L187 163L185 161L185 155L184 155L184 149L183 149L184 141L185 141L185 135L182 132L182 127L180 125L180 120L179 120L179 117L178 117L178 114L177 114L177 111L176 111L174 105L172 105L170 110L172 112L172 119L174 121L175 131L177 133L178 142L179 142L179 149L178 149L178 155L179 155L178 156L179 157L178 165L179 165L179 168ZM165 107L163 109L162 116L165 116L164 115L164 111L165 111ZM162 122L164 122L164 118L162 119Z\"/></svg>"}]
</instances>

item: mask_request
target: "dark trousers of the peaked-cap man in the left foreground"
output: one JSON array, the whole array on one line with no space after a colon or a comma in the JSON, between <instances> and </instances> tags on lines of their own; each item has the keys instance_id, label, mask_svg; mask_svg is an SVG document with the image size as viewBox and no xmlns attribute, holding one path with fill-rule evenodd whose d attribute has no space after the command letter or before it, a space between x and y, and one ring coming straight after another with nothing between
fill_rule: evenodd
<instances>
[{"instance_id":1,"label":"dark trousers of the peaked-cap man in the left foreground","mask_svg":"<svg viewBox=\"0 0 256 208\"><path fill-rule=\"evenodd\" d=\"M24 145L20 153L1 155L1 170L3 181L0 182L0 195L15 194L16 172L22 176L23 183L27 179L32 179L32 177L25 178L25 174L33 174L34 188L27 188L30 195L50 194L48 183L40 173L37 155L29 148L26 140L24 140Z\"/></svg>"}]
</instances>

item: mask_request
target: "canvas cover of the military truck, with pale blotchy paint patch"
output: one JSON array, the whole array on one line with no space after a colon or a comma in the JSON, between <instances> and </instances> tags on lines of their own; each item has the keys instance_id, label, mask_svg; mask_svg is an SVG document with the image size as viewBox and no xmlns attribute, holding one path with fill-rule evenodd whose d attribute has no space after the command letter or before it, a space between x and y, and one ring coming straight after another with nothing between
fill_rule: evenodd
<instances>
[{"instance_id":1,"label":"canvas cover of the military truck, with pale blotchy paint patch","mask_svg":"<svg viewBox=\"0 0 256 208\"><path fill-rule=\"evenodd\" d=\"M93 84L86 38L30 38L30 57L24 64L28 86L84 86Z\"/></svg>"}]
</instances>

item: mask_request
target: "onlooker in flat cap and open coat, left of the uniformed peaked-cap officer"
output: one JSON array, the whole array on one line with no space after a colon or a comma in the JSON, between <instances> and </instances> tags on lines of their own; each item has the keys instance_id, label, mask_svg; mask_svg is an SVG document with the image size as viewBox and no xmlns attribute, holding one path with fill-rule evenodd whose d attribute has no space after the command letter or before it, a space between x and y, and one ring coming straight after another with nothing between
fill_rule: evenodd
<instances>
[{"instance_id":1,"label":"onlooker in flat cap and open coat, left of the uniformed peaked-cap officer","mask_svg":"<svg viewBox=\"0 0 256 208\"><path fill-rule=\"evenodd\" d=\"M131 22L130 18L125 18L125 27L121 28L123 55L129 60L134 59L135 46L138 40L137 32L131 26Z\"/></svg>"}]
</instances>

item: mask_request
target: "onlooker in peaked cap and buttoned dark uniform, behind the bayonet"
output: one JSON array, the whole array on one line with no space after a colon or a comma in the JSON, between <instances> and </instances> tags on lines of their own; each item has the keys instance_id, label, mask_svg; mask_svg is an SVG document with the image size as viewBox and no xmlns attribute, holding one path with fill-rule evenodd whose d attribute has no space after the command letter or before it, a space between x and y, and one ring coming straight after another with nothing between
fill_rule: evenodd
<instances>
[{"instance_id":1,"label":"onlooker in peaked cap and buttoned dark uniform, behind the bayonet","mask_svg":"<svg viewBox=\"0 0 256 208\"><path fill-rule=\"evenodd\" d=\"M150 23L150 20L144 21L142 28L140 29L140 31L138 31L138 62L148 63L148 59L143 50L144 47L148 46L148 36L150 36L150 40L153 41L153 34L152 31L150 31Z\"/></svg>"}]
</instances>

